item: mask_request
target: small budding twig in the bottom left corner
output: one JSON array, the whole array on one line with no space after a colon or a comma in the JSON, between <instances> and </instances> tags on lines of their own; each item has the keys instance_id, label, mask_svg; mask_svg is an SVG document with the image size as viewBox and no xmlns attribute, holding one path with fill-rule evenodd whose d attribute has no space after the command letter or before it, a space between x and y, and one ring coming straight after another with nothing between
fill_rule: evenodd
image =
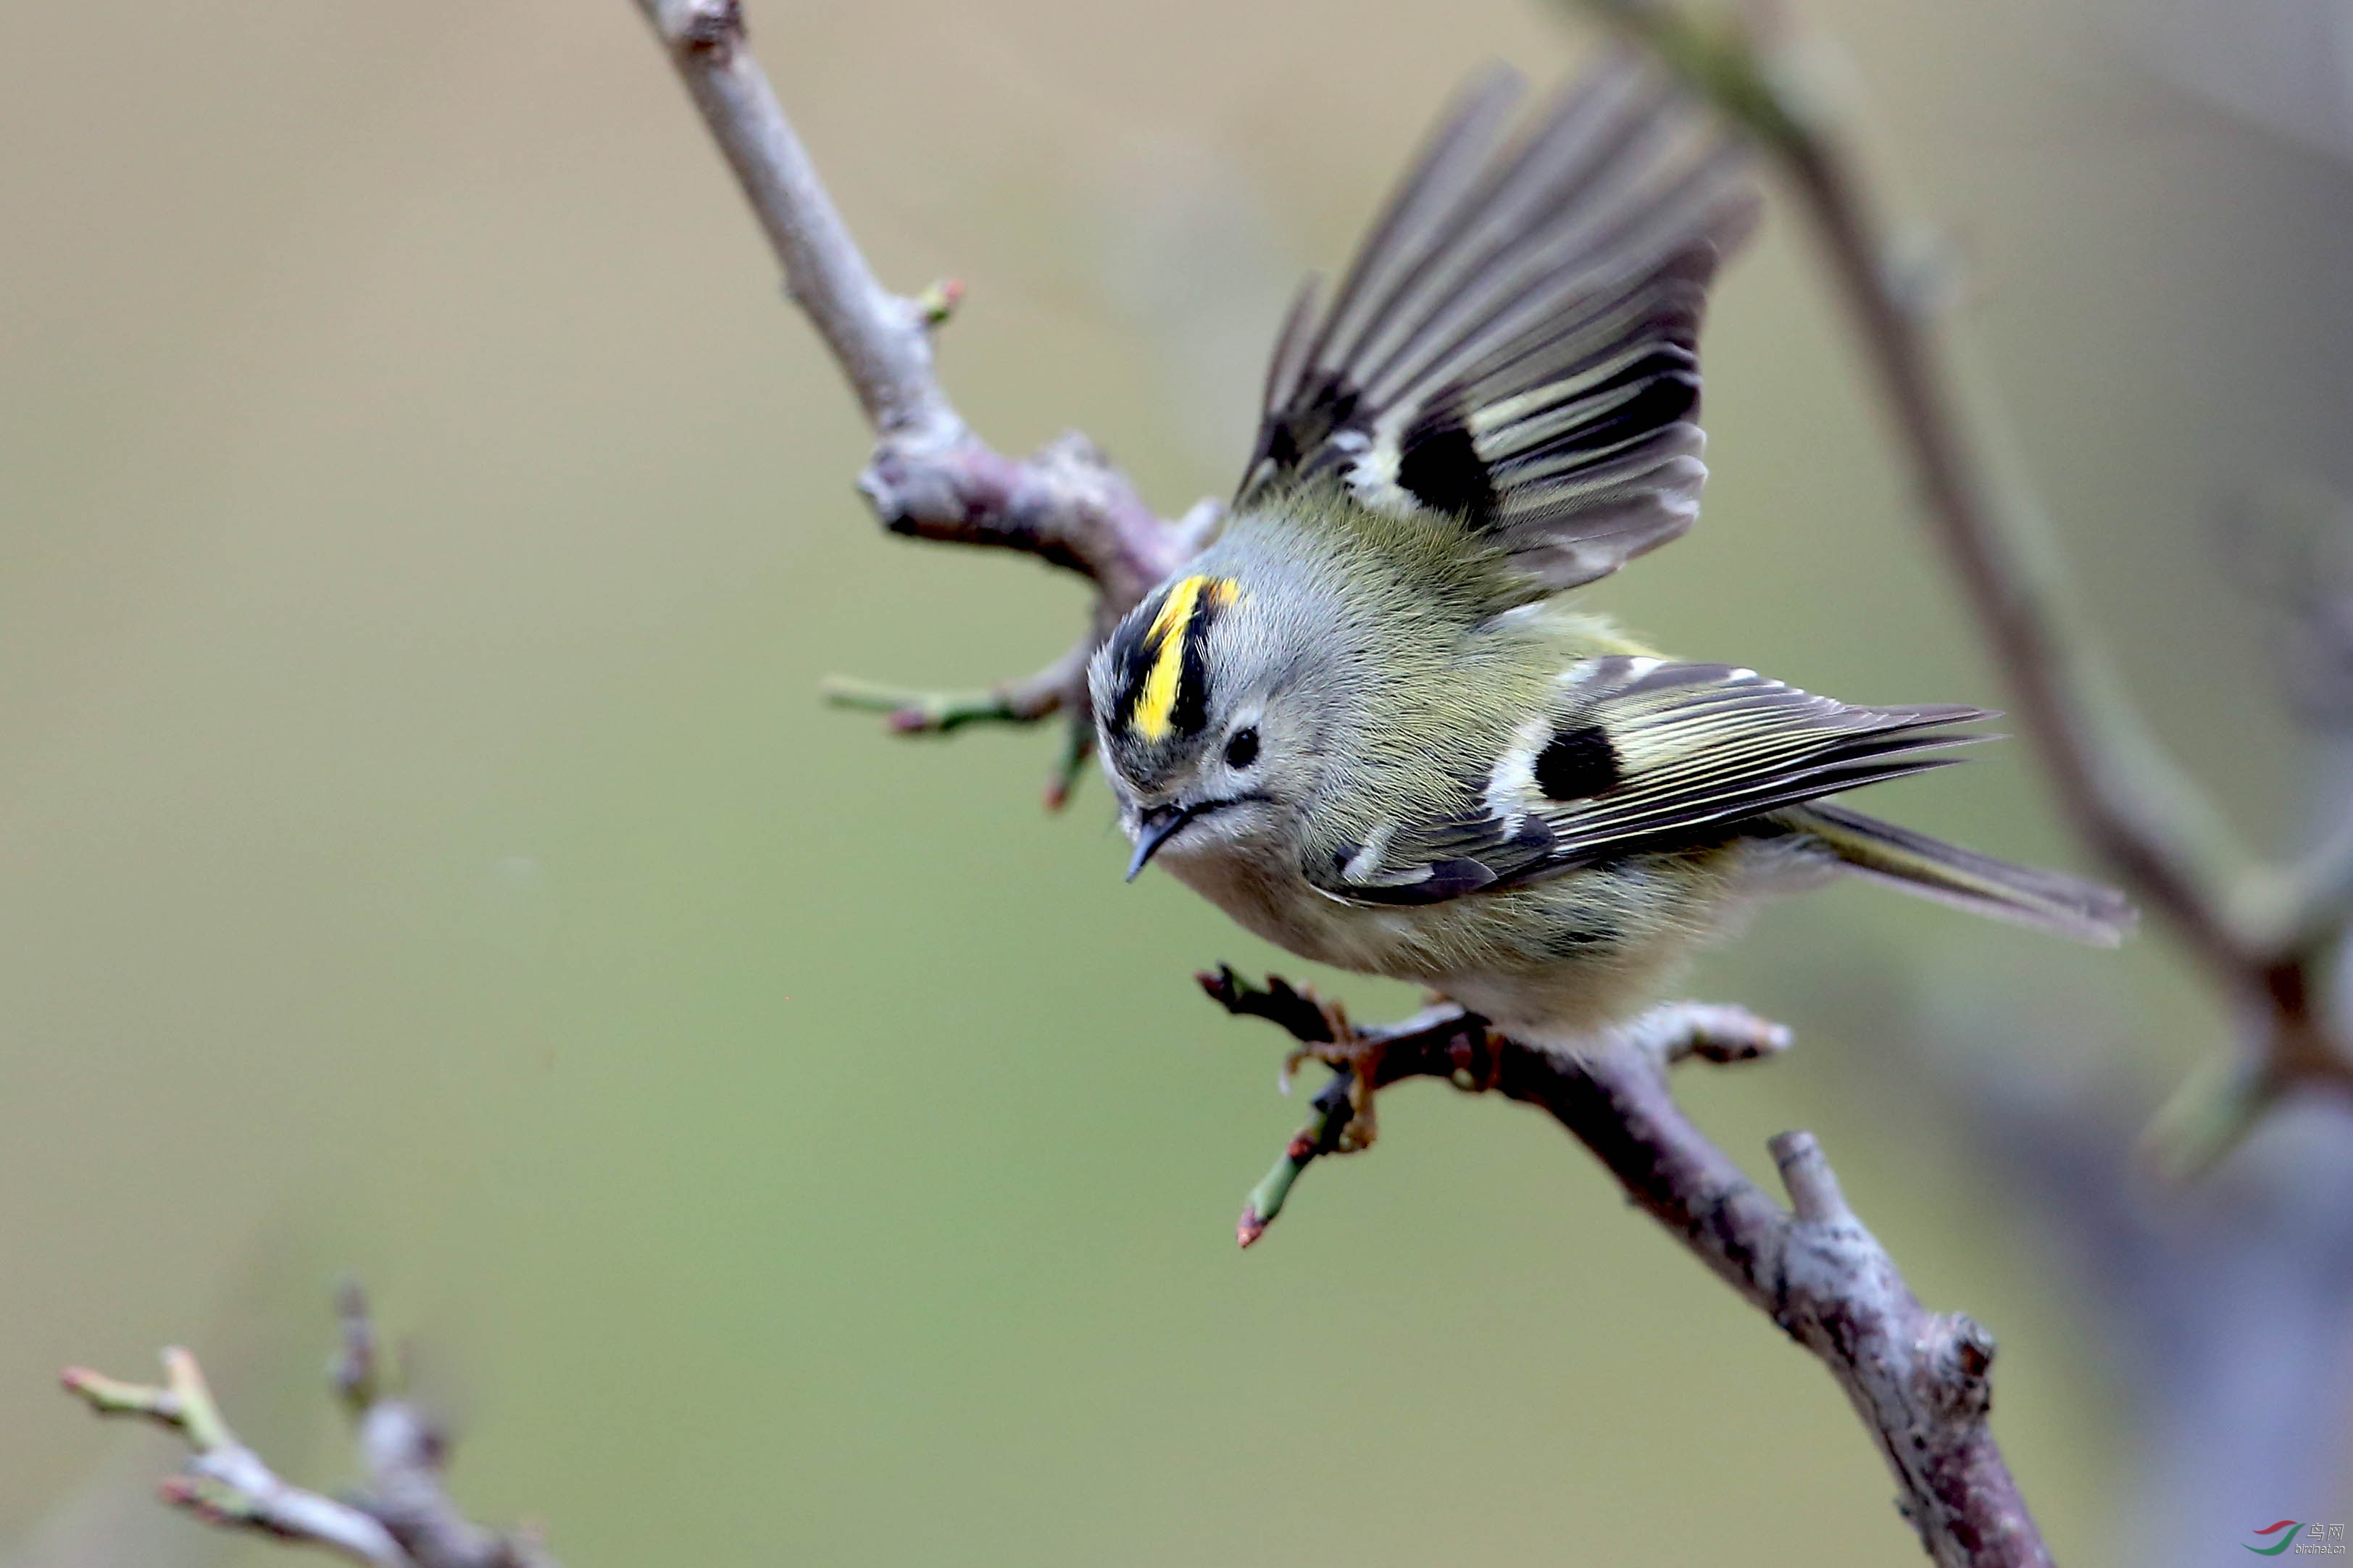
<instances>
[{"instance_id":1,"label":"small budding twig in the bottom left corner","mask_svg":"<svg viewBox=\"0 0 2353 1568\"><path fill-rule=\"evenodd\" d=\"M344 1347L334 1384L351 1410L367 1490L336 1500L282 1481L221 1417L195 1356L162 1354L165 1382L118 1382L68 1368L64 1384L99 1415L136 1415L181 1434L191 1455L162 1495L200 1519L325 1547L376 1568L558 1568L536 1530L485 1530L442 1483L447 1434L386 1391L376 1330L358 1285L336 1297Z\"/></svg>"}]
</instances>

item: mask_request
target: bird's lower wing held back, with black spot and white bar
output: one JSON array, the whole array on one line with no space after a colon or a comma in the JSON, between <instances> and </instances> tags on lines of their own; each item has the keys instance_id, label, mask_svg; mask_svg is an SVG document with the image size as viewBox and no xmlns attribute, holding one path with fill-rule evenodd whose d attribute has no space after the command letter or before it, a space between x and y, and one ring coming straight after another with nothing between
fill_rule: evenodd
<instances>
[{"instance_id":1,"label":"bird's lower wing held back, with black spot and white bar","mask_svg":"<svg viewBox=\"0 0 2353 1568\"><path fill-rule=\"evenodd\" d=\"M1567 669L1499 756L1466 756L1457 810L1377 824L1308 881L1351 904L1435 904L1706 841L1734 822L1955 758L1962 706L1854 709L1725 664Z\"/></svg>"}]
</instances>

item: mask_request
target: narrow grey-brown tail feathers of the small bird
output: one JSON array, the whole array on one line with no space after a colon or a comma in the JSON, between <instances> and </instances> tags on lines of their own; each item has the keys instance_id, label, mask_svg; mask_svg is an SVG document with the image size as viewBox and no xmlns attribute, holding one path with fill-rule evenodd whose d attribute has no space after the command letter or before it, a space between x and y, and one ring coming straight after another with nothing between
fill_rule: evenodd
<instances>
[{"instance_id":1,"label":"narrow grey-brown tail feathers of the small bird","mask_svg":"<svg viewBox=\"0 0 2353 1568\"><path fill-rule=\"evenodd\" d=\"M2012 866L1840 805L1817 800L1781 812L1781 819L1819 841L1849 871L1995 921L2115 946L2141 918L2115 888L2061 871Z\"/></svg>"}]
</instances>

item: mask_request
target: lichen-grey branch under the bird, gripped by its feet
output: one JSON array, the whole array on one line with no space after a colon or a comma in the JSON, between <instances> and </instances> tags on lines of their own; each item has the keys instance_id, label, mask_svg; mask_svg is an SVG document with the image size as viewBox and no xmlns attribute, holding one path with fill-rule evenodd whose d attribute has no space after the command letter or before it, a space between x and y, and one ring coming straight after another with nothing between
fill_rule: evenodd
<instances>
[{"instance_id":1,"label":"lichen-grey branch under the bird, gripped by its feet","mask_svg":"<svg viewBox=\"0 0 2353 1568\"><path fill-rule=\"evenodd\" d=\"M1593 1151L1642 1212L1821 1358L1878 1439L1901 1488L1899 1507L1939 1566L2049 1566L1986 1424L1993 1335L1962 1314L1920 1304L1847 1208L1812 1132L1784 1132L1769 1144L1791 1198L1781 1208L1675 1104L1675 1062L1774 1055L1788 1045L1786 1029L1741 1008L1671 1003L1595 1041L1591 1055L1567 1055L1501 1036L1461 1008L1428 1008L1362 1031L1280 979L1257 989L1219 970L1200 982L1228 1012L1271 1019L1306 1055L1344 1069L1315 1097L1315 1121L1252 1191L1242 1245L1266 1231L1308 1161L1344 1147L1358 1114L1355 1076L1372 1090L1447 1078L1466 1092L1532 1104Z\"/></svg>"}]
</instances>

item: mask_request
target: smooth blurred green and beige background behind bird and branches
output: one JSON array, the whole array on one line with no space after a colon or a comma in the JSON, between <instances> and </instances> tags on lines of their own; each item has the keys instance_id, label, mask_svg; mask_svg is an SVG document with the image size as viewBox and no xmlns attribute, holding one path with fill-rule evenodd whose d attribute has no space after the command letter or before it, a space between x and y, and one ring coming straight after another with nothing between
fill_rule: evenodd
<instances>
[{"instance_id":1,"label":"smooth blurred green and beige background behind bird and branches","mask_svg":"<svg viewBox=\"0 0 2353 1568\"><path fill-rule=\"evenodd\" d=\"M1805 14L2132 692L2294 843L2334 746L2233 560L2353 478L2353 21ZM751 26L878 268L969 285L962 410L1082 426L1167 511L1228 490L1280 304L1445 92L1593 45L1522 0ZM1120 885L1096 779L1042 815L1052 735L819 706L1031 669L1082 586L878 534L854 405L624 0L7 7L0 365L0 1561L280 1561L155 1507L172 1446L52 1380L188 1342L334 1483L346 1269L456 1413L461 1497L574 1568L1913 1561L1831 1380L1525 1111L1398 1092L1235 1253L1301 1107L1188 975L1304 965ZM2000 706L1786 214L1708 372L1706 523L1588 600ZM2024 746L1873 805L2080 864ZM1802 1041L1687 1076L1701 1121L1760 1175L1814 1128L2000 1335L2061 1561L2353 1511L2341 1111L2120 1184L2226 1036L2162 930L1838 888L1692 989Z\"/></svg>"}]
</instances>

